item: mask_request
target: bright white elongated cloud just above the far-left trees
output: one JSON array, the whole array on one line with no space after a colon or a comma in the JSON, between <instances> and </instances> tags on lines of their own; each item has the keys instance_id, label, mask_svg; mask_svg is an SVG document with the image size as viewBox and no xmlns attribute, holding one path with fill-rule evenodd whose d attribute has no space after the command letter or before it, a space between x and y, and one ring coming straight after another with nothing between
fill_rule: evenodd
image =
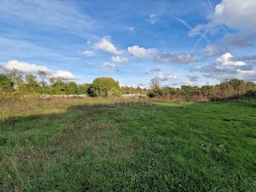
<instances>
[{"instance_id":1,"label":"bright white elongated cloud just above the far-left trees","mask_svg":"<svg viewBox=\"0 0 256 192\"><path fill-rule=\"evenodd\" d=\"M30 72L36 73L38 70L42 70L44 72L52 72L52 70L48 69L46 66L37 66L36 64L30 64L28 62L18 62L17 60L11 60L6 63L6 70L20 70L22 72Z\"/></svg>"}]
</instances>

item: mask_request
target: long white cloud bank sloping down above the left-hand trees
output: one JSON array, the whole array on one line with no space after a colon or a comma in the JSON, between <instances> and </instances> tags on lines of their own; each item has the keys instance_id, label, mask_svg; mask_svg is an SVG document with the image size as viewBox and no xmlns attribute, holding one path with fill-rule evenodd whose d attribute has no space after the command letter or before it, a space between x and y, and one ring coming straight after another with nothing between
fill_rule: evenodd
<instances>
[{"instance_id":1,"label":"long white cloud bank sloping down above the left-hand trees","mask_svg":"<svg viewBox=\"0 0 256 192\"><path fill-rule=\"evenodd\" d=\"M65 70L50 70L46 66L38 66L36 64L31 64L29 62L19 62L17 60L11 60L6 63L4 66L6 70L19 70L24 73L37 73L39 70L42 70L49 74L50 78L65 78L65 79L78 79L71 74L69 71Z\"/></svg>"}]
</instances>

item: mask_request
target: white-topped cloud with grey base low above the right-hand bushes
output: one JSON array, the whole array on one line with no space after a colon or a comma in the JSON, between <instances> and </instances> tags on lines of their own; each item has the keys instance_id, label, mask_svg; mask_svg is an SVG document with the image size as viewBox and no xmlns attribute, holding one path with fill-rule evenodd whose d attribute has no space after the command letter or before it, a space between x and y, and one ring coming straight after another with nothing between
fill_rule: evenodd
<instances>
[{"instance_id":1,"label":"white-topped cloud with grey base low above the right-hand bushes","mask_svg":"<svg viewBox=\"0 0 256 192\"><path fill-rule=\"evenodd\" d=\"M214 63L197 66L194 70L202 72L206 78L215 78L220 81L231 78L256 81L256 65L235 61L230 53L223 54Z\"/></svg>"}]
</instances>

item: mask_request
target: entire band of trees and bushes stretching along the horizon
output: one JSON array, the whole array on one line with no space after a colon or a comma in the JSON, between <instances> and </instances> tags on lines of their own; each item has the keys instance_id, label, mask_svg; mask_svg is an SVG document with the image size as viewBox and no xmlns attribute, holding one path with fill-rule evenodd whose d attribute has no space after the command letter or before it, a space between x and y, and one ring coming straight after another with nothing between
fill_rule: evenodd
<instances>
[{"instance_id":1,"label":"entire band of trees and bushes stretching along the horizon","mask_svg":"<svg viewBox=\"0 0 256 192\"><path fill-rule=\"evenodd\" d=\"M43 71L24 74L18 70L0 73L0 99L15 98L22 94L86 94L90 97L120 97L122 94L146 94L149 98L183 101L220 101L230 98L256 97L254 82L231 79L216 86L162 87L160 81L151 80L150 89L119 86L113 78L96 78L94 82L78 85L63 78L49 78Z\"/></svg>"}]
</instances>

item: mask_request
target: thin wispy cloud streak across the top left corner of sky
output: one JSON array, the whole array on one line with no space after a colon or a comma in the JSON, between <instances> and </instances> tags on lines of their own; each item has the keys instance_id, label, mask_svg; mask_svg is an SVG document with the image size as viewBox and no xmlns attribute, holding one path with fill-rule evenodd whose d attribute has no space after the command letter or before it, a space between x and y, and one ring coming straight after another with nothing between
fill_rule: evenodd
<instances>
[{"instance_id":1,"label":"thin wispy cloud streak across the top left corner of sky","mask_svg":"<svg viewBox=\"0 0 256 192\"><path fill-rule=\"evenodd\" d=\"M13 22L30 22L43 28L50 26L51 29L59 28L72 34L82 35L99 26L93 18L79 12L78 7L66 1L3 0L0 11L2 19L12 18Z\"/></svg>"}]
</instances>

